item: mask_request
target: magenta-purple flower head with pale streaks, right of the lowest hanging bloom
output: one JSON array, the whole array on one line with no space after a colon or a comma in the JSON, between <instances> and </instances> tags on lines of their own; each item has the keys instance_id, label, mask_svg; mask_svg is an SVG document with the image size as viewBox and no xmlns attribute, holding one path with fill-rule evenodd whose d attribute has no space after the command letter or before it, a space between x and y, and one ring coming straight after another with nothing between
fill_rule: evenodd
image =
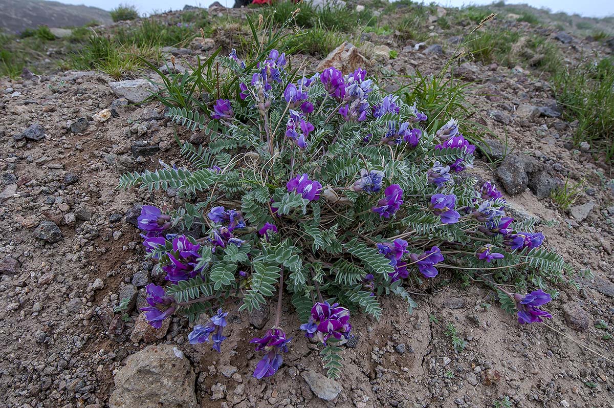
<instances>
[{"instance_id":1,"label":"magenta-purple flower head with pale streaks, right of the lowest hanging bloom","mask_svg":"<svg viewBox=\"0 0 614 408\"><path fill-rule=\"evenodd\" d=\"M301 330L305 330L305 337L311 339L315 335L324 345L330 337L337 340L341 340L341 337L348 339L352 330L349 310L338 303L331 306L328 302L317 302L311 308L308 323L301 324Z\"/></svg>"}]
</instances>

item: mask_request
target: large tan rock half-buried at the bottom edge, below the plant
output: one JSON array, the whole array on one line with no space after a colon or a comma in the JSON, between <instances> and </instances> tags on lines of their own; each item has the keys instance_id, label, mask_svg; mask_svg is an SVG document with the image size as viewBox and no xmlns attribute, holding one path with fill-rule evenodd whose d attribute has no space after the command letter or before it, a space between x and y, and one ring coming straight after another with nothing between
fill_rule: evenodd
<instances>
[{"instance_id":1,"label":"large tan rock half-buried at the bottom edge, below the plant","mask_svg":"<svg viewBox=\"0 0 614 408\"><path fill-rule=\"evenodd\" d=\"M179 348L148 346L128 356L115 374L110 408L184 408L196 406L196 375Z\"/></svg>"}]
</instances>

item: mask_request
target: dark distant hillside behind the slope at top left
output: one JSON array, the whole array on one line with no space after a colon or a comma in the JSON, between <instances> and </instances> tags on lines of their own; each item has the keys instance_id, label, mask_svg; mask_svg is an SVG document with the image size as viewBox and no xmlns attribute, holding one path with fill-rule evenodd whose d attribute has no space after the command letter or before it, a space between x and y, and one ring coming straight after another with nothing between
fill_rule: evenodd
<instances>
[{"instance_id":1,"label":"dark distant hillside behind the slope at top left","mask_svg":"<svg viewBox=\"0 0 614 408\"><path fill-rule=\"evenodd\" d=\"M0 0L0 28L13 33L39 25L82 26L92 20L99 23L112 21L109 12L97 7L43 0Z\"/></svg>"}]
</instances>

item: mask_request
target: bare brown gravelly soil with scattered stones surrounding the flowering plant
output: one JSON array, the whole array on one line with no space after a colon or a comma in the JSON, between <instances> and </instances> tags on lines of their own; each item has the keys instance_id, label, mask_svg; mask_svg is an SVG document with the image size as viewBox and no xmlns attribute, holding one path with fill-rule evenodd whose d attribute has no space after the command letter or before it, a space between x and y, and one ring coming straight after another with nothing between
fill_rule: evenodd
<instances>
[{"instance_id":1,"label":"bare brown gravelly soil with scattered stones surrounding the flowering plant","mask_svg":"<svg viewBox=\"0 0 614 408\"><path fill-rule=\"evenodd\" d=\"M372 47L344 45L333 57L379 74L429 74L453 51L369 40ZM214 44L168 52L187 63ZM401 50L395 60L391 45ZM573 38L560 45L568 58L596 49ZM293 313L282 318L296 328L288 333L292 350L280 372L261 381L251 377L259 356L247 342L272 323L268 310L235 313L221 354L189 345L187 321L155 330L139 315L144 286L160 277L144 261L138 205L181 203L173 191L117 187L125 171L179 160L163 107L133 104L149 95L149 82L93 72L1 79L0 407L486 407L503 396L516 407L614 406L614 340L604 339L614 334L611 168L570 144L575 124L560 119L538 73L465 62L454 75L473 82L475 119L500 138L482 147L491 157L473 171L498 179L516 217L539 219L546 244L594 278L581 279L580 291L559 287L546 328L520 326L493 292L448 286L450 275L441 273L416 288L413 315L386 299L381 321L352 319L356 337L344 345L338 382L324 377L318 348ZM384 77L384 86L395 86ZM179 130L179 137L200 135ZM561 211L549 196L567 178L585 179L585 190ZM114 312L125 297L127 321ZM600 320L607 329L595 326ZM448 323L464 350L454 350Z\"/></svg>"}]
</instances>

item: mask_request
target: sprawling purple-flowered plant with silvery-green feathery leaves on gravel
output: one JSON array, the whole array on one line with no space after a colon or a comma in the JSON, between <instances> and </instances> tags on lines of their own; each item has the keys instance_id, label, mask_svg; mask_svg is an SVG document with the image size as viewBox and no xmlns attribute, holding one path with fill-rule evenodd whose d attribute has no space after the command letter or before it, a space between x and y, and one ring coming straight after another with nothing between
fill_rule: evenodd
<instances>
[{"instance_id":1,"label":"sprawling purple-flowered plant with silvery-green feathery leaves on gravel","mask_svg":"<svg viewBox=\"0 0 614 408\"><path fill-rule=\"evenodd\" d=\"M322 343L330 377L358 313L378 319L381 296L416 307L407 289L445 271L498 292L520 323L563 279L559 256L542 248L534 221L514 220L490 182L471 175L475 146L455 120L429 134L429 118L387 95L363 69L305 75L272 50L249 65L233 52L217 61L236 97L204 112L168 116L207 138L181 144L186 163L128 173L124 187L179 191L182 205L143 206L139 228L158 283L147 287L147 320L195 322L192 344L220 350L228 313L251 312L278 296L272 328L251 340L273 375L292 337L279 324L288 294L306 337ZM505 291L502 286L515 288ZM536 290L529 292L529 286ZM545 292L548 291L548 292ZM193 323L192 323L193 324ZM290 345L290 348L289 348Z\"/></svg>"}]
</instances>

